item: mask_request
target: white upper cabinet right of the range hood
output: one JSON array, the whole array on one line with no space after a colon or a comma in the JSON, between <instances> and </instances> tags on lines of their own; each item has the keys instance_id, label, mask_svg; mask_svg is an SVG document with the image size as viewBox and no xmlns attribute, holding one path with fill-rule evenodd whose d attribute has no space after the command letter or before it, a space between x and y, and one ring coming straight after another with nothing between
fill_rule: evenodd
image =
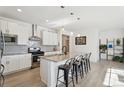
<instances>
[{"instance_id":1,"label":"white upper cabinet right of the range hood","mask_svg":"<svg viewBox=\"0 0 124 93\"><path fill-rule=\"evenodd\" d=\"M42 33L43 45L58 45L58 34L50 31L43 31Z\"/></svg>"}]
</instances>

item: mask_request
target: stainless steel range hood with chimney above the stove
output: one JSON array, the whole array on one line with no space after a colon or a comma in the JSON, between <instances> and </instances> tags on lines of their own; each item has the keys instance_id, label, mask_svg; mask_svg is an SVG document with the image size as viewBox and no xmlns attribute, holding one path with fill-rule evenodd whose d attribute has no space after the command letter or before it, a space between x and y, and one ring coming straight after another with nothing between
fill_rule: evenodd
<instances>
[{"instance_id":1,"label":"stainless steel range hood with chimney above the stove","mask_svg":"<svg viewBox=\"0 0 124 93\"><path fill-rule=\"evenodd\" d=\"M29 37L30 41L41 41L41 38L35 36L34 33L37 32L37 24L32 24L32 36Z\"/></svg>"}]
</instances>

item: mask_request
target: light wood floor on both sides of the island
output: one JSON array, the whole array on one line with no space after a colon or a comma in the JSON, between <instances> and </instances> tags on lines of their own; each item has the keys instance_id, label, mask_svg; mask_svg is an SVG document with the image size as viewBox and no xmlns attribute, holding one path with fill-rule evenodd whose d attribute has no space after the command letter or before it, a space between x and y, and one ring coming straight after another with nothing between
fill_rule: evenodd
<instances>
[{"instance_id":1,"label":"light wood floor on both sides of the island","mask_svg":"<svg viewBox=\"0 0 124 93\"><path fill-rule=\"evenodd\" d=\"M83 79L79 79L76 87L104 87L103 81L107 68L124 69L124 63L100 61L91 64L91 71ZM5 76L5 87L45 87L40 80L40 69L21 71Z\"/></svg>"}]
</instances>

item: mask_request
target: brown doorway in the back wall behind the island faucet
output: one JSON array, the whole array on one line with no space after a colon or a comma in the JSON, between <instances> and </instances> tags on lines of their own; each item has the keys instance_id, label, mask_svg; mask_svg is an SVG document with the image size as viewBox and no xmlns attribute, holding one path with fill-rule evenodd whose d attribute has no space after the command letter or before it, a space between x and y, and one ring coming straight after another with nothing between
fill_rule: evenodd
<instances>
[{"instance_id":1,"label":"brown doorway in the back wall behind the island faucet","mask_svg":"<svg viewBox=\"0 0 124 93\"><path fill-rule=\"evenodd\" d=\"M70 43L70 37L68 35L62 35L62 52L64 54L69 53L70 48L69 48L69 43Z\"/></svg>"}]
</instances>

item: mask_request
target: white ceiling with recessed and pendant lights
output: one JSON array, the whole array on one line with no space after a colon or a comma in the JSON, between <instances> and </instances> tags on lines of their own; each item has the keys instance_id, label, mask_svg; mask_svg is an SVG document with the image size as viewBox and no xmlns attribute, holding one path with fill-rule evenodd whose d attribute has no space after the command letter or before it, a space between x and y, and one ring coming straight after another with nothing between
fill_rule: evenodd
<instances>
[{"instance_id":1,"label":"white ceiling with recessed and pendant lights","mask_svg":"<svg viewBox=\"0 0 124 93\"><path fill-rule=\"evenodd\" d=\"M22 9L21 13L16 11L18 8ZM124 28L123 6L65 6L63 9L59 6L1 6L0 16L50 28L64 26L69 31ZM77 17L80 20L76 20Z\"/></svg>"}]
</instances>

